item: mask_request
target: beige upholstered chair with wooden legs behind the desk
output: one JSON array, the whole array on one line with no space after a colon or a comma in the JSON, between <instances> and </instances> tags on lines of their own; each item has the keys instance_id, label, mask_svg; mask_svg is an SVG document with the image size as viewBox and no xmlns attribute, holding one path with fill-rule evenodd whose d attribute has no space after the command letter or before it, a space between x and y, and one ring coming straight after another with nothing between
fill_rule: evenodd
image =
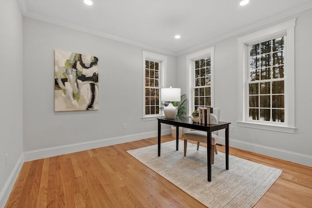
<instances>
[{"instance_id":1,"label":"beige upholstered chair with wooden legs behind the desk","mask_svg":"<svg viewBox=\"0 0 312 208\"><path fill-rule=\"evenodd\" d=\"M213 113L219 120L220 118L220 108L213 108ZM215 131L211 133L211 160L212 164L215 163L215 154L217 154L216 150L216 141L219 137L219 131ZM199 149L199 143L207 143L207 132L203 131L189 131L184 133L184 156L186 156L186 149L187 149L187 140L195 141L197 142L197 151Z\"/></svg>"}]
</instances>

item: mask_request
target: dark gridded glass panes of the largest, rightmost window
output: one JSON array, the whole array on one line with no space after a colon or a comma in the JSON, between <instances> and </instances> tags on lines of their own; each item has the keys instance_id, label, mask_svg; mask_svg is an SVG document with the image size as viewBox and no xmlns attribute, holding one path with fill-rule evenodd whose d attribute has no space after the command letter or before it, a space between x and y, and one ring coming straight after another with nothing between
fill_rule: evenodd
<instances>
[{"instance_id":1,"label":"dark gridded glass panes of the largest, rightmost window","mask_svg":"<svg viewBox=\"0 0 312 208\"><path fill-rule=\"evenodd\" d=\"M249 119L284 123L284 37L250 45L249 51Z\"/></svg>"}]
</instances>

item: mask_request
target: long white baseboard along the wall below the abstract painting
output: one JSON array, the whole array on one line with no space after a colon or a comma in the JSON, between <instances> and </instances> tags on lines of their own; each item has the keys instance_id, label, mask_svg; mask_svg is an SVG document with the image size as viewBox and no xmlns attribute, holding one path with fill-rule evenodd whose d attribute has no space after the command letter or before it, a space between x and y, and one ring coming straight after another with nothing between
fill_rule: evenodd
<instances>
[{"instance_id":1,"label":"long white baseboard along the wall below the abstract painting","mask_svg":"<svg viewBox=\"0 0 312 208\"><path fill-rule=\"evenodd\" d=\"M168 130L165 129L161 131L161 135L166 135L170 133L171 133L171 129L168 129ZM116 145L116 144L121 144L125 142L132 142L132 141L156 137L156 136L157 136L157 131L144 132L144 133L137 133L137 134L131 134L131 135L125 135L125 136L119 136L119 137L113 137L113 138L94 140L90 142L82 142L82 143L77 143L77 144L64 145L64 146L53 147L53 148L46 148L46 149L40 149L40 150L34 150L34 151L25 151L24 160L25 162L27 162L27 161L46 158L46 157L53 157L53 156L73 153L77 151L91 150L94 148Z\"/></svg>"}]
</instances>

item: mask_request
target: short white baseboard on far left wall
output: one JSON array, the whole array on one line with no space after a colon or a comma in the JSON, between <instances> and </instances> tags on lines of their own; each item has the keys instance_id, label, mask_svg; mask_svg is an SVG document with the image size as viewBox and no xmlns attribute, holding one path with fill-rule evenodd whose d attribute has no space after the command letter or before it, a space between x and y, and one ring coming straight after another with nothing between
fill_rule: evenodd
<instances>
[{"instance_id":1,"label":"short white baseboard on far left wall","mask_svg":"<svg viewBox=\"0 0 312 208\"><path fill-rule=\"evenodd\" d=\"M7 179L3 189L0 192L0 208L4 208L6 201L8 200L10 193L13 189L15 181L20 173L20 169L24 163L24 154L20 155L20 158L16 165L14 166L9 178Z\"/></svg>"}]
</instances>

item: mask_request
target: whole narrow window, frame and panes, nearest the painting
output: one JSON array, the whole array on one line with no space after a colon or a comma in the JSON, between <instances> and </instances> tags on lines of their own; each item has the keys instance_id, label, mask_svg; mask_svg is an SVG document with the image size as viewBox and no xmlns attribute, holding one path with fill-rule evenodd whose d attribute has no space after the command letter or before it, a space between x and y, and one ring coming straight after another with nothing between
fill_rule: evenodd
<instances>
[{"instance_id":1,"label":"whole narrow window, frame and panes, nearest the painting","mask_svg":"<svg viewBox=\"0 0 312 208\"><path fill-rule=\"evenodd\" d=\"M142 51L143 54L143 120L161 116L160 88L164 86L167 57Z\"/></svg>"}]
</instances>

